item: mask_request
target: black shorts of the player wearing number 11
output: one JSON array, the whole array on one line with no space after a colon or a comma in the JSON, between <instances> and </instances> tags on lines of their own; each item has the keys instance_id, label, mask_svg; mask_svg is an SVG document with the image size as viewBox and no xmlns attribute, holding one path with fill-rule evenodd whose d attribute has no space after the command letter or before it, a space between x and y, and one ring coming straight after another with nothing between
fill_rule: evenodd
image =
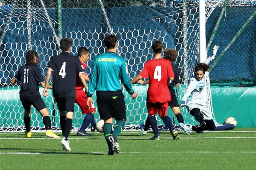
<instances>
[{"instance_id":1,"label":"black shorts of the player wearing number 11","mask_svg":"<svg viewBox=\"0 0 256 170\"><path fill-rule=\"evenodd\" d=\"M41 96L36 96L33 100L27 100L24 98L20 98L20 101L23 105L23 108L27 111L30 111L31 105L34 106L34 108L39 112L42 109L46 108L46 105L41 98Z\"/></svg>"}]
</instances>

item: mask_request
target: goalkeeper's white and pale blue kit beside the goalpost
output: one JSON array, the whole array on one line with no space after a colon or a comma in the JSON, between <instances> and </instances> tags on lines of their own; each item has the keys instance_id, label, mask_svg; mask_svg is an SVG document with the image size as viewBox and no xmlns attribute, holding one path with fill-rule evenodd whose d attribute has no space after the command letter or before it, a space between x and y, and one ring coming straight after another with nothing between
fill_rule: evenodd
<instances>
[{"instance_id":1,"label":"goalkeeper's white and pale blue kit beside the goalpost","mask_svg":"<svg viewBox=\"0 0 256 170\"><path fill-rule=\"evenodd\" d=\"M212 61L211 57L207 58L204 63L209 64ZM187 103L187 108L191 111L193 108L199 108L204 114L204 119L212 119L210 111L206 107L206 101L204 101L204 88L205 77L198 81L196 75L189 80L189 86L186 88L182 101Z\"/></svg>"}]
</instances>

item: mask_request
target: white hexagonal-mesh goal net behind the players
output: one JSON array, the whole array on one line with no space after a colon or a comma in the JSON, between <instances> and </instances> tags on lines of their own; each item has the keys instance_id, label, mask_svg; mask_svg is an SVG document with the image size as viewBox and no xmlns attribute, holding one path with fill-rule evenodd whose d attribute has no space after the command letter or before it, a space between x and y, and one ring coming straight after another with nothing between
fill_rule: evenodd
<instances>
[{"instance_id":1,"label":"white hexagonal-mesh goal net behind the players","mask_svg":"<svg viewBox=\"0 0 256 170\"><path fill-rule=\"evenodd\" d=\"M230 0L229 4L232 3L234 1ZM206 19L216 7L224 4L224 0L206 0ZM153 41L162 41L164 48L175 48L178 51L176 64L181 69L181 87L177 89L180 100L199 62L198 0L0 0L0 131L24 129L20 84L10 84L10 81L25 63L26 51L38 52L39 67L45 77L44 67L49 58L60 51L60 38L68 37L73 42L72 54L76 55L81 46L89 49L87 74L90 75L93 59L104 52L102 40L106 34L116 34L119 38L117 52L128 61L131 79L140 73L147 60L152 59ZM127 130L137 129L147 117L147 86L135 85L134 88L138 93L136 100L124 91ZM208 83L207 106L212 112L209 89ZM58 130L59 113L52 94L42 98L51 114L52 126ZM196 123L185 109L182 113L186 124ZM169 116L173 116L172 112ZM214 118L213 112L212 116ZM76 105L75 130L83 118ZM97 110L95 119L99 120ZM157 121L163 125L160 118ZM44 129L42 118L34 108L31 122L32 130Z\"/></svg>"}]
</instances>

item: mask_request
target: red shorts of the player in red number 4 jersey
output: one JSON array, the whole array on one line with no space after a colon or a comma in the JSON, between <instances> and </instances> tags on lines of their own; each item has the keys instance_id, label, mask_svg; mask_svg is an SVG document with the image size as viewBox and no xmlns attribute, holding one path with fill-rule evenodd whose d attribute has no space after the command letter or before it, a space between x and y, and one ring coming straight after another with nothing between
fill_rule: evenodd
<instances>
[{"instance_id":1,"label":"red shorts of the player in red number 4 jersey","mask_svg":"<svg viewBox=\"0 0 256 170\"><path fill-rule=\"evenodd\" d=\"M151 103L147 102L147 108L148 108L148 114L154 114L156 115L158 112L158 115L160 117L167 116L168 111L168 102L165 103Z\"/></svg>"}]
</instances>

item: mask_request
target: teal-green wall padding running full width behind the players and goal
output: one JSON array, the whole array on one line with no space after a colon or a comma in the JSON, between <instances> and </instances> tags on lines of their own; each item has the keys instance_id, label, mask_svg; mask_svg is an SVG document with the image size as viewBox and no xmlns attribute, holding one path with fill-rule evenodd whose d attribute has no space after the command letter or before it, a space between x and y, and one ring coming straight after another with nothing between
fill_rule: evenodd
<instances>
[{"instance_id":1,"label":"teal-green wall padding running full width behind the players and goal","mask_svg":"<svg viewBox=\"0 0 256 170\"><path fill-rule=\"evenodd\" d=\"M131 95L124 92L126 103L126 115L129 118L126 125L140 125L144 123L147 117L146 108L146 94L147 86L137 85L134 86L135 91L138 94L137 99L131 99ZM43 88L40 88L42 94ZM237 127L256 127L256 105L253 103L256 96L256 88L232 88L232 87L211 87L212 92L212 105L215 119L218 123L223 123L227 117L234 117L237 120ZM182 94L181 94L182 95ZM42 97L46 103L46 106L50 112L52 126L59 127L59 113L58 108L55 109L55 119L52 115L53 98L52 91L49 90L48 97ZM46 102L47 101L47 102ZM96 95L93 95L93 101L96 103ZM12 89L4 88L0 93L0 126L22 125L23 124L23 107L19 99L19 89L12 87ZM57 106L56 106L57 107ZM133 109L134 108L134 109ZM182 108L182 111L184 111ZM186 110L185 110L186 111ZM35 112L35 113L34 113ZM168 115L173 120L172 110L169 109ZM190 119L192 116L188 113L185 122L189 124L195 124L197 122ZM80 127L83 121L84 115L81 116L81 110L79 106L75 105L73 125L74 127ZM99 119L99 113L95 113L95 119ZM162 120L157 116L158 124L163 125ZM34 126L44 127L42 117L40 114L32 108L32 122ZM177 122L175 122L177 123ZM12 126L11 126L12 127Z\"/></svg>"}]
</instances>

